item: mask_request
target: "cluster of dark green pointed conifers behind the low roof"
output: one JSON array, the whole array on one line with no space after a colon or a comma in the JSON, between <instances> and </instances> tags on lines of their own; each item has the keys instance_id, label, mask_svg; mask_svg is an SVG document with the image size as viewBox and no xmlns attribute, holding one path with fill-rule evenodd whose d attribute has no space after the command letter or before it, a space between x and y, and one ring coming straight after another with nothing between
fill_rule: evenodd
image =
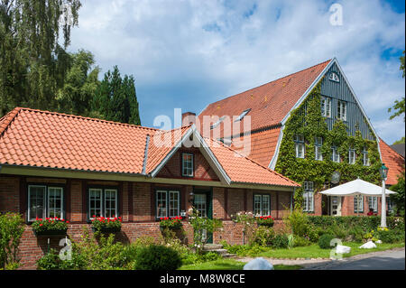
<instances>
[{"instance_id":1,"label":"cluster of dark green pointed conifers behind the low roof","mask_svg":"<svg viewBox=\"0 0 406 288\"><path fill-rule=\"evenodd\" d=\"M92 116L141 125L134 77L122 78L117 66L108 70L93 98Z\"/></svg>"}]
</instances>

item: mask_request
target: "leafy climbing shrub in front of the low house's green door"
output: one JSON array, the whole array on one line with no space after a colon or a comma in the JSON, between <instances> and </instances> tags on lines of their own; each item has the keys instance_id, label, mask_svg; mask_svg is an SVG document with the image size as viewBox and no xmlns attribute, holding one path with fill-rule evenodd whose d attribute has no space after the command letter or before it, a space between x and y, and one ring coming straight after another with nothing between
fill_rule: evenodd
<instances>
[{"instance_id":1,"label":"leafy climbing shrub in front of the low house's green door","mask_svg":"<svg viewBox=\"0 0 406 288\"><path fill-rule=\"evenodd\" d=\"M223 222L220 219L210 219L199 216L197 209L189 209L189 223L193 228L193 242L198 253L201 253L203 246L208 242L206 235L212 234L223 228Z\"/></svg>"}]
</instances>

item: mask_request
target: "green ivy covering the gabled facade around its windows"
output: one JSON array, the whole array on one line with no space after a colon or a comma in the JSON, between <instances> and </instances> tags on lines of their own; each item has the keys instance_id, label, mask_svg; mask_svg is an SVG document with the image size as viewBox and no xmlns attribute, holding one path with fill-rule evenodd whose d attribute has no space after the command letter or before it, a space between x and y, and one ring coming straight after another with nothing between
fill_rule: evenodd
<instances>
[{"instance_id":1,"label":"green ivy covering the gabled facade around its windows","mask_svg":"<svg viewBox=\"0 0 406 288\"><path fill-rule=\"evenodd\" d=\"M340 184L355 180L357 177L364 181L379 184L381 160L377 142L363 139L358 127L356 127L354 136L348 135L347 126L341 120L337 120L332 130L328 131L328 125L325 118L321 116L320 111L320 83L321 80L300 107L291 112L291 116L283 130L275 170L301 184L304 181L313 181L315 192L329 187L331 175L335 171L341 173ZM295 134L304 135L305 159L296 158L295 143L293 141ZM323 161L315 159L315 137L323 138L321 147ZM337 147L340 163L331 161L332 146ZM364 166L363 164L362 152L364 147L368 151L370 166ZM349 149L355 150L355 164L348 163ZM302 205L302 194L302 188L296 190L294 196L296 205Z\"/></svg>"}]
</instances>

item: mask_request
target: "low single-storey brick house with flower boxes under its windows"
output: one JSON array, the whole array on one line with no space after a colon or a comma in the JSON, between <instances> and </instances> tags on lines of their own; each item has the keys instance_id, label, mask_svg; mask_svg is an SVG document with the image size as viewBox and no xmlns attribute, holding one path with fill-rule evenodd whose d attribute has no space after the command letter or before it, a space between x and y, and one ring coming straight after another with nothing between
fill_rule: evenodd
<instances>
[{"instance_id":1,"label":"low single-storey brick house with flower boxes under its windows","mask_svg":"<svg viewBox=\"0 0 406 288\"><path fill-rule=\"evenodd\" d=\"M26 221L20 254L33 268L60 237L36 237L35 218L69 220L78 239L94 216L122 217L117 237L159 237L159 218L184 216L193 205L224 221L217 243L242 243L239 211L280 221L299 187L294 181L204 139L194 125L161 131L81 116L15 108L0 119L0 213ZM288 210L288 211L287 211ZM192 239L183 220L186 241Z\"/></svg>"}]
</instances>

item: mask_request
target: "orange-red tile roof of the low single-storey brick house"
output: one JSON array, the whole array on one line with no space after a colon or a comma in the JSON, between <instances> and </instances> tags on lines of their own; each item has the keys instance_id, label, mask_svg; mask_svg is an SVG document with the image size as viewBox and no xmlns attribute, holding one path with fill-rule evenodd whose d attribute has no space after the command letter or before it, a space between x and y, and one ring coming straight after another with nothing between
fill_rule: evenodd
<instances>
[{"instance_id":1,"label":"orange-red tile roof of the low single-storey brick house","mask_svg":"<svg viewBox=\"0 0 406 288\"><path fill-rule=\"evenodd\" d=\"M145 173L148 174L188 131L190 126L162 131L82 116L15 108L0 119L0 164L142 174L146 159ZM159 137L156 139L163 139L163 146L155 139L157 135ZM291 187L298 185L251 159L241 157L224 145L210 149L231 181Z\"/></svg>"}]
</instances>

